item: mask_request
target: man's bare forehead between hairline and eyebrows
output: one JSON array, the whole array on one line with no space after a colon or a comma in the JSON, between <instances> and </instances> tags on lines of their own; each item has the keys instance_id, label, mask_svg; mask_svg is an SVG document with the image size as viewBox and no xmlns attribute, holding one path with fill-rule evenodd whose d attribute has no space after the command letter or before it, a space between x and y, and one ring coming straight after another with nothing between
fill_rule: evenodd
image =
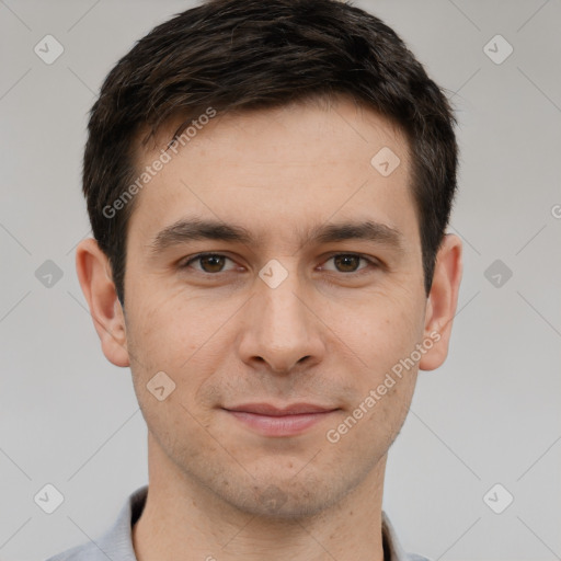
<instances>
[{"instance_id":1,"label":"man's bare forehead between hairline and eyebrows","mask_svg":"<svg viewBox=\"0 0 561 561\"><path fill-rule=\"evenodd\" d=\"M340 99L227 113L199 119L162 152L178 124L137 153L139 174L167 161L136 195L129 234L145 243L185 215L238 225L261 242L296 242L310 225L357 214L415 237L408 142L370 110Z\"/></svg>"}]
</instances>

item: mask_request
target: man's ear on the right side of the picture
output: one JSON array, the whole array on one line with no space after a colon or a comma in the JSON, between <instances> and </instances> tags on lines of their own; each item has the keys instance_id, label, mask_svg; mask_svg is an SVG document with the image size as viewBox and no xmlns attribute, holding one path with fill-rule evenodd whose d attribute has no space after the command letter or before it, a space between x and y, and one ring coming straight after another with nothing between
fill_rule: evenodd
<instances>
[{"instance_id":1,"label":"man's ear on the right side of the picture","mask_svg":"<svg viewBox=\"0 0 561 561\"><path fill-rule=\"evenodd\" d=\"M421 370L438 368L448 355L462 274L461 251L460 239L447 233L436 255L433 285L425 311L424 341L431 340L434 344L419 362Z\"/></svg>"}]
</instances>

